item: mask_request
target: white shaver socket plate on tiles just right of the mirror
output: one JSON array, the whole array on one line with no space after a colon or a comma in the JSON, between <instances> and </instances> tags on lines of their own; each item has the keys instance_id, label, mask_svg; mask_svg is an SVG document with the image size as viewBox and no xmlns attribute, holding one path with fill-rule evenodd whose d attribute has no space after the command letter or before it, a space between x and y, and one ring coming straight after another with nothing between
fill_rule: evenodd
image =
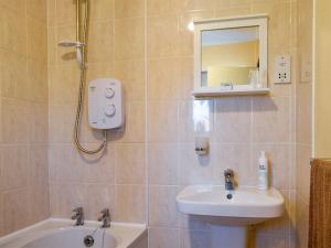
<instances>
[{"instance_id":1,"label":"white shaver socket plate on tiles just right of the mirror","mask_svg":"<svg viewBox=\"0 0 331 248\"><path fill-rule=\"evenodd\" d=\"M275 84L291 83L291 57L290 55L279 55L275 58L274 69Z\"/></svg>"}]
</instances>

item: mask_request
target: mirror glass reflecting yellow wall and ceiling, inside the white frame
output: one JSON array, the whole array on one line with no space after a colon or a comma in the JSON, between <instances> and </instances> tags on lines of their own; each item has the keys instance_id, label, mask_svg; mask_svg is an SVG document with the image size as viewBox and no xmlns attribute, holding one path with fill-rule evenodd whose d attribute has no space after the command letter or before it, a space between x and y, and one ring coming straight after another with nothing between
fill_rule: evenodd
<instances>
[{"instance_id":1,"label":"mirror glass reflecting yellow wall and ceiling, inside the white frame","mask_svg":"<svg viewBox=\"0 0 331 248\"><path fill-rule=\"evenodd\" d=\"M204 30L201 45L202 87L258 82L259 26Z\"/></svg>"}]
</instances>

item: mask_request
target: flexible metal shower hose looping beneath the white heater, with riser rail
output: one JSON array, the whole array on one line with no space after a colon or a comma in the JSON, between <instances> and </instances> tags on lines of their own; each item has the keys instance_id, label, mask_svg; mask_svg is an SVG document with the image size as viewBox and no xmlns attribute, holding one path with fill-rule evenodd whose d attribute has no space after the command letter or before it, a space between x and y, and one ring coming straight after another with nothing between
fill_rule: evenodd
<instances>
[{"instance_id":1,"label":"flexible metal shower hose looping beneath the white heater, with riser rail","mask_svg":"<svg viewBox=\"0 0 331 248\"><path fill-rule=\"evenodd\" d=\"M83 115L83 106L84 106L84 95L85 95L85 82L86 82L86 51L87 51L87 33L88 33L88 14L89 14L89 0L85 1L85 14L84 14L84 25L83 25L83 40L82 43L85 44L83 46L77 46L76 50L79 53L82 53L82 65L81 68L81 79L79 79L79 93L78 93L78 103L77 103L77 109L76 109L76 119L75 119L75 127L74 127L74 141L76 148L86 154L96 154L100 151L103 151L106 147L107 142L107 131L104 130L104 139L103 142L99 144L99 147L95 150L87 150L85 149L79 141L79 127L81 127L81 119ZM79 11L81 11L81 0L77 0L77 18L76 18L76 24L77 24L77 41L81 41L81 32L79 32Z\"/></svg>"}]
</instances>

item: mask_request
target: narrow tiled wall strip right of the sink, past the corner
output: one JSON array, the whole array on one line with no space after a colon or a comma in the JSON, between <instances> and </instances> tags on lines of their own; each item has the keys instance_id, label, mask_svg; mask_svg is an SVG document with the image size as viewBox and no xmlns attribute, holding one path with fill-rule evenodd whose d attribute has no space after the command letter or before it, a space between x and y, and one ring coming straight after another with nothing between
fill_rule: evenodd
<instances>
[{"instance_id":1,"label":"narrow tiled wall strip right of the sink, past the corner","mask_svg":"<svg viewBox=\"0 0 331 248\"><path fill-rule=\"evenodd\" d=\"M312 7L298 1L298 85L297 85L297 234L298 248L308 246L309 186L312 106Z\"/></svg>"}]
</instances>

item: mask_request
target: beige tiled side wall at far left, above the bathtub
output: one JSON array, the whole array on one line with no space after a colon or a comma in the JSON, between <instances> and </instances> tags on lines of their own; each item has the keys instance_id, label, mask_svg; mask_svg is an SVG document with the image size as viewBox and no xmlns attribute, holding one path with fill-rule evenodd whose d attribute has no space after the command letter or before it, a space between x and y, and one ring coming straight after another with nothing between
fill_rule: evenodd
<instances>
[{"instance_id":1,"label":"beige tiled side wall at far left, above the bathtub","mask_svg":"<svg viewBox=\"0 0 331 248\"><path fill-rule=\"evenodd\" d=\"M50 215L46 30L45 1L0 1L0 236Z\"/></svg>"}]
</instances>

